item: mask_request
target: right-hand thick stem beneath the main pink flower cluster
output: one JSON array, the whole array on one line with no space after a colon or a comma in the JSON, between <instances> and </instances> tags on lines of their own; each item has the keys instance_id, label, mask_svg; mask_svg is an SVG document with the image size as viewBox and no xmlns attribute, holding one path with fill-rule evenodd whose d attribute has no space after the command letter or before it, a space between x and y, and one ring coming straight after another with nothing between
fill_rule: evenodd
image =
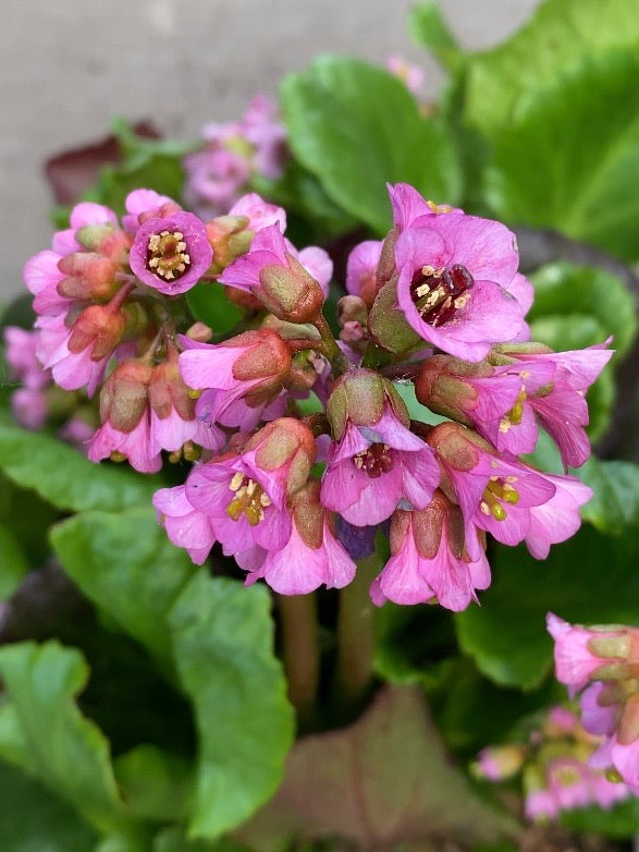
<instances>
[{"instance_id":1,"label":"right-hand thick stem beneath the main pink flower cluster","mask_svg":"<svg viewBox=\"0 0 639 852\"><path fill-rule=\"evenodd\" d=\"M335 686L346 715L358 709L372 681L376 607L368 589L379 571L378 553L360 560L355 580L340 593Z\"/></svg>"}]
</instances>

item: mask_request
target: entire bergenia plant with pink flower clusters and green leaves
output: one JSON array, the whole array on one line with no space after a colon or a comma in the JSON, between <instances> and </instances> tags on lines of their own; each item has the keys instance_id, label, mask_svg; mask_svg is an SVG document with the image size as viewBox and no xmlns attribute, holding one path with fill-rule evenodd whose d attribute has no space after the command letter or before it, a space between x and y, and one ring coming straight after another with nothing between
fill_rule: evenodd
<instances>
[{"instance_id":1,"label":"entire bergenia plant with pink flower clusters and green leaves","mask_svg":"<svg viewBox=\"0 0 639 852\"><path fill-rule=\"evenodd\" d=\"M441 104L322 57L58 209L2 319L7 852L639 831L631 4L467 54L420 3Z\"/></svg>"}]
</instances>

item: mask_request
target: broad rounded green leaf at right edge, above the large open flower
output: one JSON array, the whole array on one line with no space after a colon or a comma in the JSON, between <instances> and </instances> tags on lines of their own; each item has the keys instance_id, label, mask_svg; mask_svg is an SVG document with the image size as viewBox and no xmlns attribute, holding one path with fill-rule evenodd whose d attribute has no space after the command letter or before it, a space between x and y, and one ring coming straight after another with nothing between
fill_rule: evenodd
<instances>
[{"instance_id":1,"label":"broad rounded green leaf at right edge, above the large open flower","mask_svg":"<svg viewBox=\"0 0 639 852\"><path fill-rule=\"evenodd\" d=\"M610 51L517 102L486 171L493 211L636 258L638 75L637 52Z\"/></svg>"}]
</instances>

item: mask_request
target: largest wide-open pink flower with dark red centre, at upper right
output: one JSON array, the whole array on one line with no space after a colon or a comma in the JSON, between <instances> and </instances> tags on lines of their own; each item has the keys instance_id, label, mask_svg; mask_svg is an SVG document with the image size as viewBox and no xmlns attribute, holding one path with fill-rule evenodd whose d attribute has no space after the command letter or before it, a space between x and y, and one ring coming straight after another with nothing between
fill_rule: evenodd
<instances>
[{"instance_id":1,"label":"largest wide-open pink flower with dark red centre, at upper right","mask_svg":"<svg viewBox=\"0 0 639 852\"><path fill-rule=\"evenodd\" d=\"M524 312L507 289L517 271L515 236L500 222L464 214L416 219L395 244L397 301L429 343L466 361L513 340Z\"/></svg>"}]
</instances>

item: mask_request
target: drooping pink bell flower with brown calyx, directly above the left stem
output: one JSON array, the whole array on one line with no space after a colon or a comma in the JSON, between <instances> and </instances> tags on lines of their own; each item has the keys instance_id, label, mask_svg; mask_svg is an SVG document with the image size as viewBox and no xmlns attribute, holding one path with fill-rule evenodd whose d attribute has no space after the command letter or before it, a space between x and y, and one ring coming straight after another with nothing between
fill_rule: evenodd
<instances>
[{"instance_id":1,"label":"drooping pink bell flower with brown calyx, directly above the left stem","mask_svg":"<svg viewBox=\"0 0 639 852\"><path fill-rule=\"evenodd\" d=\"M306 595L320 585L342 588L356 565L331 528L330 514L319 500L319 483L309 480L291 499L291 537L283 548L263 551L247 584L259 577L281 595ZM246 562L245 562L246 564Z\"/></svg>"}]
</instances>

